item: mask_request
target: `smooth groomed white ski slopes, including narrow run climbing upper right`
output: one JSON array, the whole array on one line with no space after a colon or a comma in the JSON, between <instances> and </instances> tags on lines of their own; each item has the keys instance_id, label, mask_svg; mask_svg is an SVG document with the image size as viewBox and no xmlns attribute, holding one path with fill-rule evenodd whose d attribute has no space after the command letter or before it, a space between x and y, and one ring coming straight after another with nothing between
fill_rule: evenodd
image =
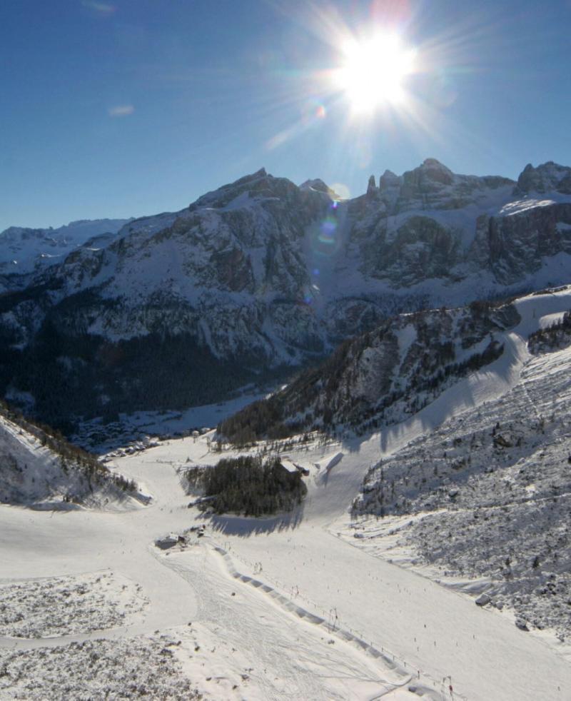
<instances>
[{"instance_id":1,"label":"smooth groomed white ski slopes, including narrow run climbing upper right","mask_svg":"<svg viewBox=\"0 0 571 701\"><path fill-rule=\"evenodd\" d=\"M446 418L510 390L529 357L527 333L543 316L571 308L571 293L529 296L517 308L522 321L503 335L501 358L409 420L368 440L288 451L294 462L312 467L308 496L292 515L211 518L213 535L198 545L159 552L155 538L207 520L186 508L176 475L187 458L191 465L216 463L220 456L209 452L206 437L163 443L112 463L153 494L146 508L46 513L2 505L0 584L108 569L140 584L149 603L128 626L38 640L0 638L0 648L150 635L196 621L213 639L233 644L241 660L256 660L248 691L242 690L248 698L568 698L570 667L543 640L337 537L368 468ZM343 457L329 470L315 468L332 453ZM233 669L227 654L221 659L213 652L205 664ZM408 690L410 671L420 672L416 692ZM214 689L200 690L217 697Z\"/></svg>"}]
</instances>

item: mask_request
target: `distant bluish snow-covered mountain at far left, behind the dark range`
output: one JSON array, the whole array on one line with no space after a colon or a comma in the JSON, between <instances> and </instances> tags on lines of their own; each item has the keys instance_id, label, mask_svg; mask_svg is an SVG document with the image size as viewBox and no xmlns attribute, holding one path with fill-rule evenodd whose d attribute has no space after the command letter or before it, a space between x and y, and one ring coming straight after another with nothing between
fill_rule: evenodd
<instances>
[{"instance_id":1,"label":"distant bluish snow-covered mountain at far left, behind the dark range","mask_svg":"<svg viewBox=\"0 0 571 701\"><path fill-rule=\"evenodd\" d=\"M61 262L78 246L106 246L128 221L131 220L84 219L59 228L10 226L0 233L0 276L4 285L10 286L11 276L26 275Z\"/></svg>"}]
</instances>

